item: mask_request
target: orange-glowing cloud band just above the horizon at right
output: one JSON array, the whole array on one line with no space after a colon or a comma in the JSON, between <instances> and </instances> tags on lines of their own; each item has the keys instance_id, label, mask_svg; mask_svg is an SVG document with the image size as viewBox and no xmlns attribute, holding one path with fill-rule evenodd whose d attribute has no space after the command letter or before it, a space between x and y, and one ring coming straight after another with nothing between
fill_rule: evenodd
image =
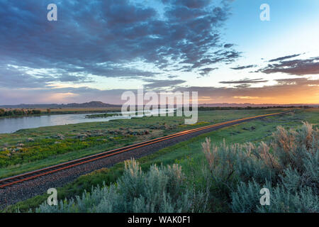
<instances>
[{"instance_id":1,"label":"orange-glowing cloud band just above the horizon at right","mask_svg":"<svg viewBox=\"0 0 319 227\"><path fill-rule=\"evenodd\" d=\"M276 81L277 84L264 87L184 87L179 89L197 91L199 97L205 96L206 99L210 97L211 99L206 103L241 102L244 100L242 97L249 97L249 100L256 104L319 103L319 79L302 77Z\"/></svg>"}]
</instances>

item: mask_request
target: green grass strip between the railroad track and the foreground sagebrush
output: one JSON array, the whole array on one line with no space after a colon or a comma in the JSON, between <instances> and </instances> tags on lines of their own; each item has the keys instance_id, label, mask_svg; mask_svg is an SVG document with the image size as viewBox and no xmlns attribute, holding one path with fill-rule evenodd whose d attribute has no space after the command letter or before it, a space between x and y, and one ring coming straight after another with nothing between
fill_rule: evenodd
<instances>
[{"instance_id":1,"label":"green grass strip between the railroad track and the foreground sagebrush","mask_svg":"<svg viewBox=\"0 0 319 227\"><path fill-rule=\"evenodd\" d=\"M225 117L225 115L223 117ZM237 118L241 117L242 116L239 116ZM201 119L204 118L206 118L206 115ZM206 121L207 120L208 119L206 118ZM201 151L201 143L206 137L211 138L212 143L221 143L223 140L225 140L225 143L258 143L261 140L269 140L269 136L276 130L276 126L280 125L284 128L298 128L302 125L302 121L308 121L309 123L318 126L319 110L299 110L296 111L296 114L271 116L247 123L240 123L235 126L229 126L218 131L199 135L196 138L178 143L177 145L164 148L152 155L142 157L138 161L141 163L143 170L147 170L153 163L157 163L158 165L169 165L175 162L182 166L186 175L194 175L194 172L201 172L201 166L205 162ZM90 191L91 187L96 184L102 184L103 182L110 184L115 182L116 179L122 175L122 172L123 162L118 163L111 168L104 168L91 172L88 175L83 175L74 182L65 185L65 187L58 188L58 198L70 198L82 194L84 189ZM202 179L196 179L196 182L200 184L201 180ZM42 194L26 201L21 201L13 206L9 206L4 211L12 212L16 211L18 208L21 211L28 211L28 209L34 209L46 199L47 194ZM216 206L216 211L218 211L218 209L223 208L218 208L218 206Z\"/></svg>"}]
</instances>

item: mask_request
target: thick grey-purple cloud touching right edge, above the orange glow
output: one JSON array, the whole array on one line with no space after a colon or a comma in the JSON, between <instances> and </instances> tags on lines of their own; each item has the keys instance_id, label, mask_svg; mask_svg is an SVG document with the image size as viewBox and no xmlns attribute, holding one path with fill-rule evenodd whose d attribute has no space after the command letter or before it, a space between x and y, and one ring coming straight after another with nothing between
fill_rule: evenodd
<instances>
[{"instance_id":1,"label":"thick grey-purple cloud touching right edge, above the orange glow","mask_svg":"<svg viewBox=\"0 0 319 227\"><path fill-rule=\"evenodd\" d=\"M287 60L275 64L269 64L267 67L257 71L266 74L274 72L284 72L293 75L319 74L319 57L311 57L306 60Z\"/></svg>"}]
</instances>

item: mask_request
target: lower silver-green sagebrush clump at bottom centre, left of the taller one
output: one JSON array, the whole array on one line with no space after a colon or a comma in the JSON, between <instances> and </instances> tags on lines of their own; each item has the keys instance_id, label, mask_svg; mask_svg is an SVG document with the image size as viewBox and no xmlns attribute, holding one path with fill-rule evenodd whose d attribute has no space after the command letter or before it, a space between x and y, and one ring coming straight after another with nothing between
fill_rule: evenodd
<instances>
[{"instance_id":1,"label":"lower silver-green sagebrush clump at bottom centre, left of the taller one","mask_svg":"<svg viewBox=\"0 0 319 227\"><path fill-rule=\"evenodd\" d=\"M42 204L36 212L200 212L206 211L206 195L186 187L179 165L143 172L135 160L125 162L116 184L94 187L57 206ZM195 201L195 202L194 202Z\"/></svg>"}]
</instances>

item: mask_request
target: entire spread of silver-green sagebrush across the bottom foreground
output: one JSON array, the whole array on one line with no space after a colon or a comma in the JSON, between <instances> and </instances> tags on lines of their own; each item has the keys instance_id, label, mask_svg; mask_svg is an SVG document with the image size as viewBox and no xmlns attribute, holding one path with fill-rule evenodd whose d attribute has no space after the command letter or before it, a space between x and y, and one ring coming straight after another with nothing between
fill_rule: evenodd
<instances>
[{"instance_id":1,"label":"entire spread of silver-green sagebrush across the bottom foreground","mask_svg":"<svg viewBox=\"0 0 319 227\"><path fill-rule=\"evenodd\" d=\"M272 140L258 145L212 145L206 138L202 148L207 163L201 172L186 176L177 164L152 165L143 172L130 160L115 184L92 187L82 196L58 206L43 204L36 211L318 212L318 137L318 128L303 123L299 130L279 126ZM196 177L206 179L205 187L194 185L201 182ZM262 188L269 189L269 206L259 203Z\"/></svg>"}]
</instances>

